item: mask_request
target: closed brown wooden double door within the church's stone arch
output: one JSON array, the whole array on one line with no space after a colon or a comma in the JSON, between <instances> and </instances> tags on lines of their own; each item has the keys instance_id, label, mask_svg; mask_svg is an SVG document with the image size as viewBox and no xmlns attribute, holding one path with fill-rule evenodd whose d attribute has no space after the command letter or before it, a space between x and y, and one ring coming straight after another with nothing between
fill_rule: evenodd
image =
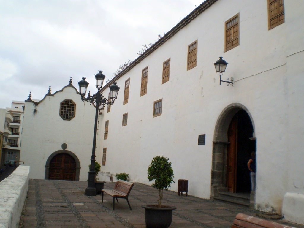
<instances>
[{"instance_id":1,"label":"closed brown wooden double door within the church's stone arch","mask_svg":"<svg viewBox=\"0 0 304 228\"><path fill-rule=\"evenodd\" d=\"M50 180L71 180L76 177L76 162L69 154L57 154L50 162Z\"/></svg>"}]
</instances>

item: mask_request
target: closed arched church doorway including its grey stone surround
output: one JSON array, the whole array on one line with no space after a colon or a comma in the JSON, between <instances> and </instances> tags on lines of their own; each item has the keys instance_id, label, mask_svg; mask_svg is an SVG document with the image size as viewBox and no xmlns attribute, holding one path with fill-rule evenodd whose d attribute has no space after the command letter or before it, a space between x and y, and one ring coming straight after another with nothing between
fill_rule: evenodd
<instances>
[{"instance_id":1,"label":"closed arched church doorway including its grey stone surround","mask_svg":"<svg viewBox=\"0 0 304 228\"><path fill-rule=\"evenodd\" d=\"M47 159L45 179L79 181L80 161L69 150L57 150Z\"/></svg>"}]
</instances>

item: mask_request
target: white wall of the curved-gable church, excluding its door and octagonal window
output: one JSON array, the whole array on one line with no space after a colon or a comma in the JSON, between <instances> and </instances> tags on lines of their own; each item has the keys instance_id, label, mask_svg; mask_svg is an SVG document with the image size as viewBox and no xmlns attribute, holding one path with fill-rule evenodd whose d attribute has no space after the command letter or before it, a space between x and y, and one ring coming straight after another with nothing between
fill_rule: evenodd
<instances>
[{"instance_id":1,"label":"white wall of the curved-gable church, excluding its door and octagonal window","mask_svg":"<svg viewBox=\"0 0 304 228\"><path fill-rule=\"evenodd\" d=\"M59 116L60 102L71 99L76 104L76 114L71 120ZM33 111L36 109L36 113ZM21 161L31 167L29 178L44 179L48 157L61 145L80 160L80 180L88 179L88 165L92 154L95 107L82 102L77 90L64 87L63 91L46 96L38 105L25 102L22 132Z\"/></svg>"}]
</instances>

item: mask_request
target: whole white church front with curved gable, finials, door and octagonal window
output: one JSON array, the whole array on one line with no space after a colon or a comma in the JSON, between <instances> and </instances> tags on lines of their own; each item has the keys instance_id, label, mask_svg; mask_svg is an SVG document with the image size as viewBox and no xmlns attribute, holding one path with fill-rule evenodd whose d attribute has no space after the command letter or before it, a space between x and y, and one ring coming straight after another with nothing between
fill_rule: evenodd
<instances>
[{"instance_id":1,"label":"whole white church front with curved gable, finials, door and octagonal window","mask_svg":"<svg viewBox=\"0 0 304 228\"><path fill-rule=\"evenodd\" d=\"M71 84L39 102L25 101L20 159L29 178L88 179L95 107L82 102Z\"/></svg>"}]
</instances>

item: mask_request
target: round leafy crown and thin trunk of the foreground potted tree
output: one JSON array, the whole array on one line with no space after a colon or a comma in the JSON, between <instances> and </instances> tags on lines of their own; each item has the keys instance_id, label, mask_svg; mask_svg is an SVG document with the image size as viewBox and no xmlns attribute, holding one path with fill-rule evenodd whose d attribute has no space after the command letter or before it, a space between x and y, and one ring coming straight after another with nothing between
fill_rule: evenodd
<instances>
[{"instance_id":1,"label":"round leafy crown and thin trunk of the foreground potted tree","mask_svg":"<svg viewBox=\"0 0 304 228\"><path fill-rule=\"evenodd\" d=\"M153 188L158 189L158 207L161 207L161 199L163 198L163 190L170 188L174 174L169 158L164 156L156 156L148 167L148 180L154 181Z\"/></svg>"}]
</instances>

